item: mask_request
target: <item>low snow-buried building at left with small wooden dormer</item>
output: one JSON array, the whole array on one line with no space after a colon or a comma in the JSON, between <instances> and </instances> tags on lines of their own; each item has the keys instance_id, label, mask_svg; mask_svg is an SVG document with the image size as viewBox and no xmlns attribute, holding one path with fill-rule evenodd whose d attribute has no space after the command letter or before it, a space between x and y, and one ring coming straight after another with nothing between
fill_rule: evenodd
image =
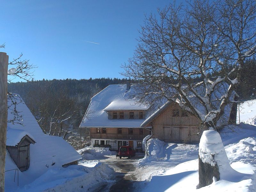
<instances>
[{"instance_id":1,"label":"low snow-buried building at left with small wooden dormer","mask_svg":"<svg viewBox=\"0 0 256 192\"><path fill-rule=\"evenodd\" d=\"M45 135L36 119L20 98L13 95L20 123L8 123L6 135L5 188L15 191L51 169L77 164L82 157L61 137ZM8 120L13 119L14 105L8 99ZM17 175L19 172L19 177ZM14 182L15 181L15 182Z\"/></svg>"}]
</instances>

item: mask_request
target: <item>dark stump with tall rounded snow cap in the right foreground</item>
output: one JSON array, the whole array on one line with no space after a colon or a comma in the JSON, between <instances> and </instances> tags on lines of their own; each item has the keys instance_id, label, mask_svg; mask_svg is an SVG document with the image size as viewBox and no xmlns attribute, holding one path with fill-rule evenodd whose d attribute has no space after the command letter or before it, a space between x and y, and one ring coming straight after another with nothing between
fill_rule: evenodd
<instances>
[{"instance_id":1,"label":"dark stump with tall rounded snow cap in the right foreground","mask_svg":"<svg viewBox=\"0 0 256 192\"><path fill-rule=\"evenodd\" d=\"M199 188L212 184L213 177L217 181L220 180L225 166L230 167L220 134L216 131L203 132L199 143L198 157ZM225 176L225 174L222 175Z\"/></svg>"}]
</instances>

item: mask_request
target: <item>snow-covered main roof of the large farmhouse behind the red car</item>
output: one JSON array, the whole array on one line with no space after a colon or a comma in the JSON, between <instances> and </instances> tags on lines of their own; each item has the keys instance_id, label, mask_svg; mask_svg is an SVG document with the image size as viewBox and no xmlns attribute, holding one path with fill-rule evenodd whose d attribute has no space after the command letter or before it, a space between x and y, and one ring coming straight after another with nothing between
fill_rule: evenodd
<instances>
[{"instance_id":1,"label":"snow-covered main roof of the large farmhouse behind the red car","mask_svg":"<svg viewBox=\"0 0 256 192\"><path fill-rule=\"evenodd\" d=\"M127 127L138 128L144 119L108 119L107 111L148 110L149 105L137 104L130 99L133 86L126 90L126 84L108 85L92 97L80 127Z\"/></svg>"}]
</instances>

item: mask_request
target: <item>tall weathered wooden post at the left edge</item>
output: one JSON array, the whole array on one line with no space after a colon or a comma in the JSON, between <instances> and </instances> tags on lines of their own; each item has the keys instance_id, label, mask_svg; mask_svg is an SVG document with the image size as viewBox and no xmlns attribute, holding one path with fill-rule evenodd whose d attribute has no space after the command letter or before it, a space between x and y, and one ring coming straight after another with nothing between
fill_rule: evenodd
<instances>
[{"instance_id":1,"label":"tall weathered wooden post at the left edge","mask_svg":"<svg viewBox=\"0 0 256 192\"><path fill-rule=\"evenodd\" d=\"M7 129L8 55L0 52L0 192L4 192L4 169Z\"/></svg>"}]
</instances>

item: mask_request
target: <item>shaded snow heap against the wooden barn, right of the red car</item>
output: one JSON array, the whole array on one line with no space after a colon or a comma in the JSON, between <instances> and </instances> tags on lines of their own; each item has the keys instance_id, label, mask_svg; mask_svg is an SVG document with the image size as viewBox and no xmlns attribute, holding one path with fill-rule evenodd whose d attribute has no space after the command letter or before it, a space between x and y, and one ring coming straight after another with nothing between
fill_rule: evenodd
<instances>
[{"instance_id":1,"label":"shaded snow heap against the wooden barn, right of the red car","mask_svg":"<svg viewBox=\"0 0 256 192\"><path fill-rule=\"evenodd\" d=\"M148 152L149 156L145 156L143 159L140 159L139 164L144 164L165 157L164 144L164 141L160 141L159 139L148 140L146 151Z\"/></svg>"}]
</instances>

